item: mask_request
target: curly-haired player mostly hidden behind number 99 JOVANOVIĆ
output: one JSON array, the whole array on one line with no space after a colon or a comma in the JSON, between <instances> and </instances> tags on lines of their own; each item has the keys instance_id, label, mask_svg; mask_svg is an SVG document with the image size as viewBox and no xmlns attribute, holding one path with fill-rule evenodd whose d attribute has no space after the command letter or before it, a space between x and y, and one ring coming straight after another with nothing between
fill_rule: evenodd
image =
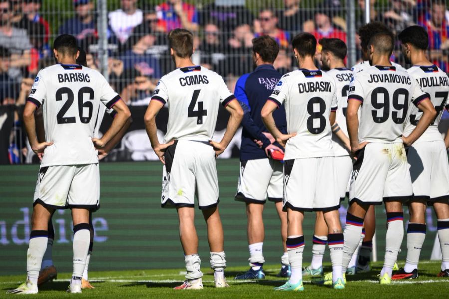
<instances>
[{"instance_id":1,"label":"curly-haired player mostly hidden behind number 99 JOVANOVI\u0106","mask_svg":"<svg viewBox=\"0 0 449 299\"><path fill-rule=\"evenodd\" d=\"M369 60L369 49L368 43L374 35L381 32L391 32L390 29L381 22L371 22L361 26L358 30L360 37L360 46L362 48L362 59L363 61L354 65L351 70L353 73L360 72L364 69L371 67ZM405 69L397 63L390 61L397 70L405 71ZM348 265L348 274L354 274L357 272L368 272L371 270L370 260L371 252L373 250L373 237L376 231L376 215L374 212L374 206L370 206L363 222L362 236L360 238L360 244L354 252L355 257L351 260ZM356 261L357 265L354 265ZM395 267L397 265L395 264ZM397 270L397 268L395 268Z\"/></svg>"}]
</instances>

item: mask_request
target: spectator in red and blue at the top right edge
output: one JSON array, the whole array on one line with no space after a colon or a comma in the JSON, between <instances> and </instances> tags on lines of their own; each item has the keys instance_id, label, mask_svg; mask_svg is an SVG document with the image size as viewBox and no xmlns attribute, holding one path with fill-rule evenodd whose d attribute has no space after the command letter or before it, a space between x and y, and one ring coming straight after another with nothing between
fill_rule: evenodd
<instances>
[{"instance_id":1,"label":"spectator in red and blue at the top right edge","mask_svg":"<svg viewBox=\"0 0 449 299\"><path fill-rule=\"evenodd\" d=\"M420 25L427 29L429 35L429 60L447 73L449 72L449 25L445 19L445 10L443 0L433 1L428 19Z\"/></svg>"}]
</instances>

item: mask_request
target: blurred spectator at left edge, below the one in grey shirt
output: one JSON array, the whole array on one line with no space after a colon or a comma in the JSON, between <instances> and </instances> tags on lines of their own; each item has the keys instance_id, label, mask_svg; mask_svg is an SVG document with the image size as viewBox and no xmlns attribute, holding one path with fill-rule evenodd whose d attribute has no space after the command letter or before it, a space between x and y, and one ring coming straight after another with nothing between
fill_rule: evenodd
<instances>
[{"instance_id":1,"label":"blurred spectator at left edge, below the one in grey shirt","mask_svg":"<svg viewBox=\"0 0 449 299\"><path fill-rule=\"evenodd\" d=\"M8 75L11 54L0 46L0 105L14 104L16 88Z\"/></svg>"}]
</instances>

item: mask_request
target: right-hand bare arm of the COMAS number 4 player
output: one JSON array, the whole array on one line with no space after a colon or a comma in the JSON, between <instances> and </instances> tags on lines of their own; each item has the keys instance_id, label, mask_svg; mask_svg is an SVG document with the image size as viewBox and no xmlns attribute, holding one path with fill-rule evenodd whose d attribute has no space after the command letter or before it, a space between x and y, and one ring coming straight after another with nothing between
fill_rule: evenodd
<instances>
[{"instance_id":1,"label":"right-hand bare arm of the COMAS number 4 player","mask_svg":"<svg viewBox=\"0 0 449 299\"><path fill-rule=\"evenodd\" d=\"M240 106L238 101L232 100L226 105L226 110L230 113L229 121L227 122L226 132L223 135L223 138L220 142L210 141L211 145L214 147L215 156L218 157L222 154L232 138L237 132L238 127L240 126L241 120L243 119L243 109Z\"/></svg>"}]
</instances>

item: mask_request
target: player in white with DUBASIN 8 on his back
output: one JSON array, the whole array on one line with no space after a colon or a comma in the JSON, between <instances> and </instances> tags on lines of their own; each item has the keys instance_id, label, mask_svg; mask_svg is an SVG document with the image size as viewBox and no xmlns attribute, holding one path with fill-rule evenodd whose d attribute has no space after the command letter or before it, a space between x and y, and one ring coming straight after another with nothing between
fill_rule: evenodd
<instances>
[{"instance_id":1,"label":"player in white with DUBASIN 8 on his back","mask_svg":"<svg viewBox=\"0 0 449 299\"><path fill-rule=\"evenodd\" d=\"M317 42L313 35L300 33L291 43L299 70L282 76L261 112L268 130L285 147L283 202L288 218L286 244L291 277L275 290L304 290L304 211L323 212L328 225L333 286L343 289L343 234L331 137L331 124L335 122L337 110L335 82L314 64ZM288 134L279 131L273 118L273 112L282 104L285 105Z\"/></svg>"}]
</instances>

